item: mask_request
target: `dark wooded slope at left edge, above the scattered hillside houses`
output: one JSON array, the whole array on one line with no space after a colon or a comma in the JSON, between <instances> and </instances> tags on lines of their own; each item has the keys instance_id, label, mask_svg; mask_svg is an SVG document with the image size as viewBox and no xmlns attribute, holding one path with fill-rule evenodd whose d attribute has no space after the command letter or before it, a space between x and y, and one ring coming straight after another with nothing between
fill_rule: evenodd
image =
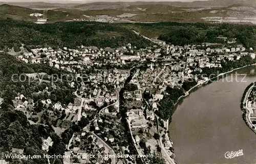
<instances>
[{"instance_id":1,"label":"dark wooded slope at left edge, above the scattered hillside houses","mask_svg":"<svg viewBox=\"0 0 256 164\"><path fill-rule=\"evenodd\" d=\"M40 83L39 80L29 83L29 78L20 76L21 81L18 80L19 75L29 73L47 73L48 75L68 74L67 72L57 70L47 64L30 64L17 60L15 57L0 53L0 97L4 99L13 100L17 93L23 94L25 97L32 98L34 101L39 99L51 99L53 102L61 102L68 105L74 102L74 95L69 83L62 79L56 81L56 88L53 89L51 83ZM13 76L17 74L17 76ZM12 80L13 79L15 80ZM51 79L49 79L51 80ZM26 87L25 87L26 86ZM34 94L35 92L42 91L48 87L51 95L47 94Z\"/></svg>"}]
</instances>

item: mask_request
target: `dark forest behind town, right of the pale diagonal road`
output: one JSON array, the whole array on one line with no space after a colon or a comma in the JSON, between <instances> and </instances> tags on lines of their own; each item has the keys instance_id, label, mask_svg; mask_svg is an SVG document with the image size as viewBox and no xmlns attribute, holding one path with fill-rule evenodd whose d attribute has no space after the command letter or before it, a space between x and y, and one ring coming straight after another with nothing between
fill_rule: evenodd
<instances>
[{"instance_id":1,"label":"dark forest behind town, right of the pale diagonal road","mask_svg":"<svg viewBox=\"0 0 256 164\"><path fill-rule=\"evenodd\" d=\"M203 42L226 44L228 40L236 38L237 43L243 44L246 48L256 49L256 26L253 25L158 22L120 24L120 26L134 29L151 38L158 37L174 45ZM227 39L220 36L227 37Z\"/></svg>"}]
</instances>

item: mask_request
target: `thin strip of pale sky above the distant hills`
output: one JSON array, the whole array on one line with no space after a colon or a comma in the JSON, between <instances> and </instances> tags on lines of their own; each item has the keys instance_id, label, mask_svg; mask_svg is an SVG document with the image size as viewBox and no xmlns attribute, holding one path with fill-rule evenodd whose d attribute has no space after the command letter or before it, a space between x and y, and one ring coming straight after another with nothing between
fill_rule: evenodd
<instances>
[{"instance_id":1,"label":"thin strip of pale sky above the distant hills","mask_svg":"<svg viewBox=\"0 0 256 164\"><path fill-rule=\"evenodd\" d=\"M47 2L47 3L91 3L91 2L193 2L206 0L0 0L0 2Z\"/></svg>"}]
</instances>

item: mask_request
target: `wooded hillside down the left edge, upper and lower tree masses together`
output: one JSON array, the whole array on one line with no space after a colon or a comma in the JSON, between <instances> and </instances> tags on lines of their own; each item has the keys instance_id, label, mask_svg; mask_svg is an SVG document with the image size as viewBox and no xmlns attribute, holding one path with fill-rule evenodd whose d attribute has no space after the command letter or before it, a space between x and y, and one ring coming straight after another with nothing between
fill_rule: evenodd
<instances>
[{"instance_id":1,"label":"wooded hillside down the left edge, upper and lower tree masses together","mask_svg":"<svg viewBox=\"0 0 256 164\"><path fill-rule=\"evenodd\" d=\"M54 133L51 126L42 125L30 125L27 120L27 116L22 112L15 110L12 100L17 93L22 93L26 98L32 98L34 100L41 99L42 96L36 97L33 93L44 90L49 87L51 90L50 96L55 95L56 100L63 104L72 102L74 100L72 89L67 91L68 83L65 81L56 82L56 88L51 87L51 83L38 83L34 81L28 83L28 79L25 81L14 82L12 75L25 74L25 73L47 73L61 74L61 71L51 68L47 64L26 64L25 62L18 61L15 57L0 53L0 97L3 98L3 102L0 105L0 152L9 154L12 148L24 149L25 155L42 155L46 151L42 151L42 138L50 136L54 145L51 147L49 154L63 154L65 151L65 144L61 142L61 138ZM23 76L24 77L24 76ZM15 79L16 80L16 79ZM26 88L25 88L26 87ZM42 110L42 109L41 109ZM3 155L3 154L2 154ZM6 158L5 156L1 156ZM6 159L11 163L27 163L38 164L48 163L46 158L41 159ZM56 159L55 163L61 163L59 159Z\"/></svg>"}]
</instances>

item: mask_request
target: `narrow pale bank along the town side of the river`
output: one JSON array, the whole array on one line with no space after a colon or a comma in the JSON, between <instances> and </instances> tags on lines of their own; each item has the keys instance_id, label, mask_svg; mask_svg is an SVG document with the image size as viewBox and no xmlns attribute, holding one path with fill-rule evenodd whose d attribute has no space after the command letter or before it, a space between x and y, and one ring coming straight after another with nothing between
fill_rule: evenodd
<instances>
[{"instance_id":1,"label":"narrow pale bank along the town side of the river","mask_svg":"<svg viewBox=\"0 0 256 164\"><path fill-rule=\"evenodd\" d=\"M199 82L197 85L191 87L188 91L186 91L186 92L185 92L185 95L183 95L183 96L181 96L181 97L178 98L177 102L174 104L175 108L177 108L178 104L181 103L184 98L186 98L187 96L189 96L189 94L190 94L192 91L196 91L196 90L197 90L198 88L200 88L201 86L204 86L204 85L209 84L209 82L214 82L214 81L219 80L218 77L220 77L220 76L223 76L223 75L232 73L232 72L234 72L234 71L236 71L236 70L238 70L238 69L242 69L242 68L245 68L245 67L248 67L248 66L252 66L252 65L256 65L256 63L251 64L251 65L245 65L245 66L239 67L239 68L235 68L235 69L232 69L231 71L228 71L228 72L219 74L219 75L217 75L217 76L214 77L214 78L205 79L204 81ZM176 110L176 109L175 109L175 110ZM169 129L170 123L171 123L171 121L169 121L169 125L168 125L168 127L167 127L168 129ZM168 139L169 139L170 141L172 141L172 139L170 139L169 134L168 134ZM172 143L173 143L173 141L172 141ZM173 147L173 144L172 144L172 147Z\"/></svg>"}]
</instances>

